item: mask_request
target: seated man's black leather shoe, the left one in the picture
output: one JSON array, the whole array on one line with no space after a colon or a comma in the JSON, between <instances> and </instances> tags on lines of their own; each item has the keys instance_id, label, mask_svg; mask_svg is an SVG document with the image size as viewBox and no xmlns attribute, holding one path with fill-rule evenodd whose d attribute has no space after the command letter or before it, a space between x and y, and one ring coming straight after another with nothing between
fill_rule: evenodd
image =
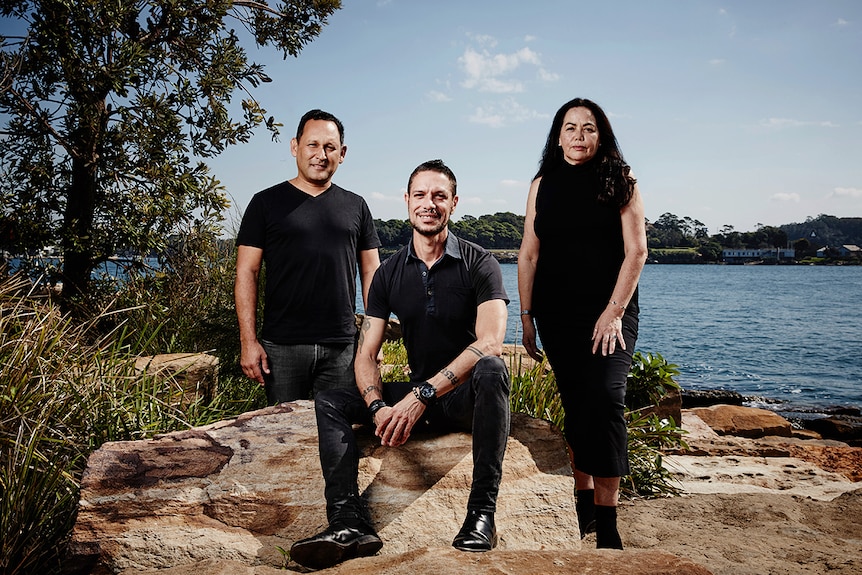
<instances>
[{"instance_id":1,"label":"seated man's black leather shoe, the left one in the picture","mask_svg":"<svg viewBox=\"0 0 862 575\"><path fill-rule=\"evenodd\" d=\"M290 547L290 558L304 567L325 569L355 557L374 555L383 542L373 529L333 523L325 531Z\"/></svg>"}]
</instances>

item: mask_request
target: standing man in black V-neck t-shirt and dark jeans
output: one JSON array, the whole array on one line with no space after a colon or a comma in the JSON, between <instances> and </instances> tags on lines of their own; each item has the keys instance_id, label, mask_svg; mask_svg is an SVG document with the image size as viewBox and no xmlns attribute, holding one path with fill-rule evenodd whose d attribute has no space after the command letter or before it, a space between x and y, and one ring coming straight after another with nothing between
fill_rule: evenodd
<instances>
[{"instance_id":1,"label":"standing man in black V-neck t-shirt and dark jeans","mask_svg":"<svg viewBox=\"0 0 862 575\"><path fill-rule=\"evenodd\" d=\"M236 240L240 362L243 373L266 388L270 404L355 387L357 265L363 301L380 265L380 240L365 200L332 183L347 153L341 121L311 110L290 151L296 177L255 194Z\"/></svg>"}]
</instances>

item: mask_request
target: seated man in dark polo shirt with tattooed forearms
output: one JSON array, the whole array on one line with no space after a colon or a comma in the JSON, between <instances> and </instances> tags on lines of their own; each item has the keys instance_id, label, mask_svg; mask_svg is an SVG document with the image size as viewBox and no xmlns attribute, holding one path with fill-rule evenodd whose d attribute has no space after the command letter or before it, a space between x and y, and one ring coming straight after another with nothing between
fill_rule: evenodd
<instances>
[{"instance_id":1,"label":"seated man in dark polo shirt with tattooed forearms","mask_svg":"<svg viewBox=\"0 0 862 575\"><path fill-rule=\"evenodd\" d=\"M297 541L291 559L322 569L383 547L359 494L353 424L374 426L381 445L403 445L416 429L471 431L473 483L467 517L452 545L497 544L494 512L509 435L509 373L500 358L506 305L500 266L483 248L449 232L458 204L455 175L440 160L410 175L405 200L412 241L374 275L360 328L357 389L315 398L329 527ZM377 354L386 323L401 322L410 382L383 383Z\"/></svg>"}]
</instances>

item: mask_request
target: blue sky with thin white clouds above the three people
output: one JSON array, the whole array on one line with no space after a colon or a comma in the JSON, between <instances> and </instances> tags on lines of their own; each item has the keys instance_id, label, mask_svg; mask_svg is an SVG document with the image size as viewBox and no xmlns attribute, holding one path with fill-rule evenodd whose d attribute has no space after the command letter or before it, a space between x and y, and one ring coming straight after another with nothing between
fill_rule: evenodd
<instances>
[{"instance_id":1,"label":"blue sky with thin white clouds above the three people","mask_svg":"<svg viewBox=\"0 0 862 575\"><path fill-rule=\"evenodd\" d=\"M406 217L407 177L432 158L458 177L456 218L523 214L551 117L576 96L610 115L650 220L716 233L862 216L859 0L343 4L298 58L249 46L273 78L253 94L284 128L211 161L233 220L295 175L311 108L343 120L335 182L375 218Z\"/></svg>"}]
</instances>

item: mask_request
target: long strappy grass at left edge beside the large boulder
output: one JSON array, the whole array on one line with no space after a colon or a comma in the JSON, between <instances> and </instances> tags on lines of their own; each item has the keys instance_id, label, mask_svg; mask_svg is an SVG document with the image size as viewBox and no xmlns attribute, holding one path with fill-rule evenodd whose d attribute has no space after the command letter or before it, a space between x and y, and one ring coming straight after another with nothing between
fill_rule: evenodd
<instances>
[{"instance_id":1,"label":"long strappy grass at left edge beside the large boulder","mask_svg":"<svg viewBox=\"0 0 862 575\"><path fill-rule=\"evenodd\" d=\"M30 285L20 276L0 279L0 572L9 575L61 572L81 473L102 443L265 404L244 377L221 374L218 393L204 402L177 382L137 372L137 350L170 332L169 317L130 327L117 318L141 310L116 309L76 323ZM141 305L159 309L156 300Z\"/></svg>"}]
</instances>

